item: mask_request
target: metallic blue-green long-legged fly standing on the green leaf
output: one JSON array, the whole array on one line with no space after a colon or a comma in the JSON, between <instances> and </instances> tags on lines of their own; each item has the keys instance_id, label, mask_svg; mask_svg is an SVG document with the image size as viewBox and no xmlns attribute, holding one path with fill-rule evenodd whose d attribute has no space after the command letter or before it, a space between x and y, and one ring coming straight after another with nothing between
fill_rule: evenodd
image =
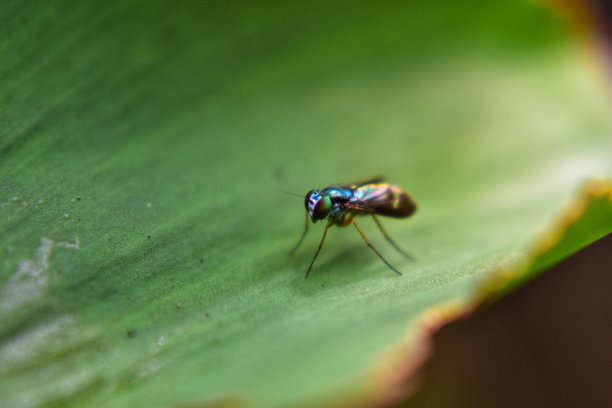
<instances>
[{"instance_id":1,"label":"metallic blue-green long-legged fly standing on the green leaf","mask_svg":"<svg viewBox=\"0 0 612 408\"><path fill-rule=\"evenodd\" d=\"M325 230L323 230L323 237L321 238L317 252L315 252L306 270L305 278L310 274L312 265L314 265L319 252L321 252L323 242L325 242L325 237L327 236L327 231L334 225L346 227L351 224L359 231L359 234L366 244L372 248L376 255L378 255L393 272L398 275L402 274L387 262L374 245L372 245L372 242L370 242L361 227L359 227L355 221L357 216L372 216L385 239L402 255L412 258L408 253L404 252L391 237L389 237L378 220L377 215L406 218L414 214L416 211L416 204L405 191L399 187L385 183L382 177L376 177L354 184L326 187L322 190L310 190L308 194L306 194L304 205L306 206L306 226L299 242L291 250L291 253L295 252L302 244L302 241L304 241L304 237L308 232L309 218L313 223L327 218L327 225L325 226Z\"/></svg>"}]
</instances>

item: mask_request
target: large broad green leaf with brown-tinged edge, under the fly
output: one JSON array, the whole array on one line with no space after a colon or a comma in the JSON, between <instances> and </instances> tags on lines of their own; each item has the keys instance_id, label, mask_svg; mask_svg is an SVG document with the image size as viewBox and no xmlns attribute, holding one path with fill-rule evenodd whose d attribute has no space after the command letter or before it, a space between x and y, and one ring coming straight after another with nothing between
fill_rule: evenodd
<instances>
[{"instance_id":1,"label":"large broad green leaf with brown-tinged edge, under the fly","mask_svg":"<svg viewBox=\"0 0 612 408\"><path fill-rule=\"evenodd\" d=\"M575 43L490 3L3 2L0 405L377 395L426 310L612 175ZM377 175L418 203L383 220L416 261L364 219L403 276L344 228L305 280L322 226L288 256L304 208L279 190Z\"/></svg>"}]
</instances>

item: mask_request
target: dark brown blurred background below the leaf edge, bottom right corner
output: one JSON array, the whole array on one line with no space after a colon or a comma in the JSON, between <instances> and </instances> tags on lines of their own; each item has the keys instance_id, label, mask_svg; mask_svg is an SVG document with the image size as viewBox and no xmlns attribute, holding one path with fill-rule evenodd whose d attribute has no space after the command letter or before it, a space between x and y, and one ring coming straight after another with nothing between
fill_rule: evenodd
<instances>
[{"instance_id":1,"label":"dark brown blurred background below the leaf edge, bottom right corner","mask_svg":"<svg viewBox=\"0 0 612 408\"><path fill-rule=\"evenodd\" d=\"M612 406L612 235L443 327L406 407Z\"/></svg>"}]
</instances>

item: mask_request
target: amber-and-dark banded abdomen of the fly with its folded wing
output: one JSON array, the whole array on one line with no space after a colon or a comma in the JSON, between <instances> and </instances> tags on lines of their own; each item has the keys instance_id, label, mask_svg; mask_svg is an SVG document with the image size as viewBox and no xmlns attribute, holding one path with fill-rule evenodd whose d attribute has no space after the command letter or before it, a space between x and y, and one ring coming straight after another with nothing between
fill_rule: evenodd
<instances>
[{"instance_id":1,"label":"amber-and-dark banded abdomen of the fly with its folded wing","mask_svg":"<svg viewBox=\"0 0 612 408\"><path fill-rule=\"evenodd\" d=\"M416 211L416 204L402 189L388 183L365 184L353 190L353 211L405 218Z\"/></svg>"}]
</instances>

